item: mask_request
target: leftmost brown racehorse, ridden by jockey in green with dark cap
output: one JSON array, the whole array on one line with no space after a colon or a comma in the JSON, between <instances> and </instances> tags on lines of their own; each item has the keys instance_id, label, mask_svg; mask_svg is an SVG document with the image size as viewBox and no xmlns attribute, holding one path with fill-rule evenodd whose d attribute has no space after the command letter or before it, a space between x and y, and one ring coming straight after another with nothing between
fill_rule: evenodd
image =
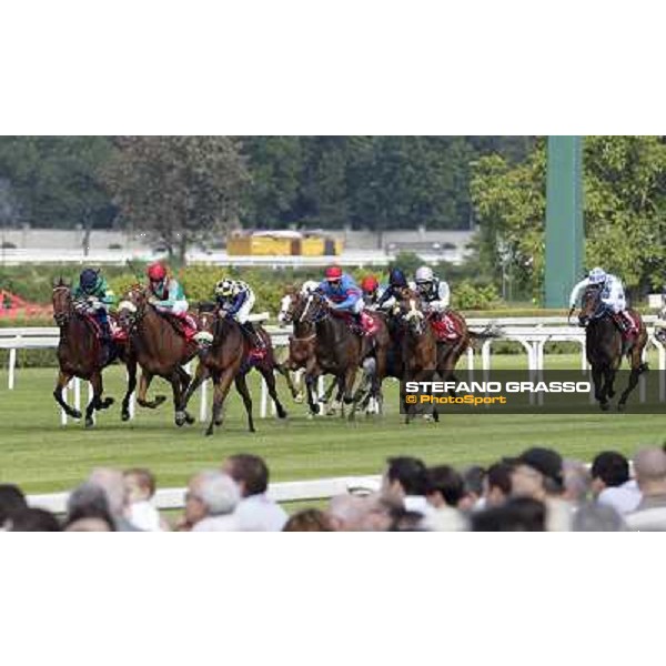
<instances>
[{"instance_id":1,"label":"leftmost brown racehorse, ridden by jockey in green with dark cap","mask_svg":"<svg viewBox=\"0 0 666 666\"><path fill-rule=\"evenodd\" d=\"M71 285L60 278L53 283L52 292L53 319L60 329L58 343L58 363L60 372L53 391L56 402L71 418L81 418L81 412L67 404L62 396L63 389L72 377L87 380L92 385L92 398L85 407L85 427L94 425L92 415L95 410L107 410L113 404L112 397L104 397L102 382L103 369L114 361L112 352L104 353L100 342L99 324L92 316L77 307ZM121 417L130 417L130 396L137 385L137 362L128 344L115 343L118 357L125 363L129 373L128 391L122 401Z\"/></svg>"}]
</instances>

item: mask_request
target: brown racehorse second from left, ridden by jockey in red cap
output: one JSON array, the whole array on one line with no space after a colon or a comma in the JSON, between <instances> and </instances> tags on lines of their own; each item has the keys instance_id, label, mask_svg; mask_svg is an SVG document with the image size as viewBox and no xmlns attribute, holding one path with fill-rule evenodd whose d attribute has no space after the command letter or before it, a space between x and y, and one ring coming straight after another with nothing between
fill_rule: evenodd
<instances>
[{"instance_id":1,"label":"brown racehorse second from left, ridden by jockey in red cap","mask_svg":"<svg viewBox=\"0 0 666 666\"><path fill-rule=\"evenodd\" d=\"M141 285L130 289L118 311L118 323L128 333L132 353L142 370L137 404L154 410L167 400L163 395L155 396L154 401L147 400L157 375L171 384L175 424L194 423L183 403L191 377L182 366L196 355L196 342L185 340L179 322L160 314L148 302L148 293Z\"/></svg>"}]
</instances>

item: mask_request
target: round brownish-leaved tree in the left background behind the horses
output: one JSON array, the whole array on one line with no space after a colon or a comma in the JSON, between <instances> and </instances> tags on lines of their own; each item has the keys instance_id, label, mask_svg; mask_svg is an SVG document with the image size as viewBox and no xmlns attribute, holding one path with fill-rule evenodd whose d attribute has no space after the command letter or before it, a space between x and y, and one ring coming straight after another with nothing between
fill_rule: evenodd
<instances>
[{"instance_id":1,"label":"round brownish-leaved tree in the left background behind the horses","mask_svg":"<svg viewBox=\"0 0 666 666\"><path fill-rule=\"evenodd\" d=\"M239 142L230 137L124 137L104 169L123 218L184 262L238 223L249 181Z\"/></svg>"}]
</instances>

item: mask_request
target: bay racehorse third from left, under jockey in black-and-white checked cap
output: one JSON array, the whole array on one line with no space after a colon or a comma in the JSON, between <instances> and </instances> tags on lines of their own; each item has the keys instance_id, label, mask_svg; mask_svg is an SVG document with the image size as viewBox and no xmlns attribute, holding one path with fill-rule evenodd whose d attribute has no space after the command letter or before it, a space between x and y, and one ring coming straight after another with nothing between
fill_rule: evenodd
<instances>
[{"instance_id":1,"label":"bay racehorse third from left, under jockey in black-and-white checked cap","mask_svg":"<svg viewBox=\"0 0 666 666\"><path fill-rule=\"evenodd\" d=\"M232 381L235 383L236 391L243 398L243 405L248 414L248 427L251 433L255 432L254 420L252 417L252 396L250 395L246 382L246 375L253 367L261 373L266 383L269 395L275 403L278 417L285 418L286 412L275 390L275 371L286 375L292 395L295 391L291 385L286 370L275 361L271 337L265 330L261 326L255 327L266 350L265 355L262 359L258 359L253 356L252 344L243 335L240 324L232 317L220 316L219 309L212 303L202 303L200 305L199 323L202 331L212 334L213 342L210 349L200 353L196 373L185 393L184 404L188 404L199 386L211 376L215 389L211 422L205 434L212 435L214 426L222 425L222 406Z\"/></svg>"}]
</instances>

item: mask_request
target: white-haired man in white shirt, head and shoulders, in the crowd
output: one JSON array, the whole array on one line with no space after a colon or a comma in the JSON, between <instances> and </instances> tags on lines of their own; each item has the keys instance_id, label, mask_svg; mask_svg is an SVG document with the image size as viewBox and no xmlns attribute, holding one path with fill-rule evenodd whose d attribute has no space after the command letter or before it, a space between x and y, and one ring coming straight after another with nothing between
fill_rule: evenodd
<instances>
[{"instance_id":1,"label":"white-haired man in white shirt, head and shoulders, in the crowd","mask_svg":"<svg viewBox=\"0 0 666 666\"><path fill-rule=\"evenodd\" d=\"M234 481L219 470L208 470L190 480L185 494L185 519L181 529L238 532L234 511L241 494Z\"/></svg>"}]
</instances>

